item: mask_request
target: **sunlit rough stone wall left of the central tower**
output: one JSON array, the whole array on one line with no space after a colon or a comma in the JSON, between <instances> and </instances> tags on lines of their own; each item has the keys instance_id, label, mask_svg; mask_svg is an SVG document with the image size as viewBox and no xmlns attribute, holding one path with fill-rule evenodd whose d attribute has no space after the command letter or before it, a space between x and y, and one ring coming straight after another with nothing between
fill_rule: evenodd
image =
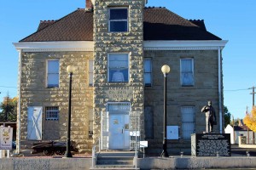
<instances>
[{"instance_id":1,"label":"sunlit rough stone wall left of the central tower","mask_svg":"<svg viewBox=\"0 0 256 170\"><path fill-rule=\"evenodd\" d=\"M46 88L47 59L59 59L59 88ZM20 138L27 144L27 108L43 107L43 140L67 139L68 83L67 65L73 65L71 139L80 152L91 149L88 138L89 109L93 106L93 88L89 86L88 59L92 52L22 53L20 95ZM59 120L45 121L45 107L58 106ZM28 144L29 145L29 144ZM22 147L22 144L21 144ZM24 145L23 145L24 147Z\"/></svg>"}]
</instances>

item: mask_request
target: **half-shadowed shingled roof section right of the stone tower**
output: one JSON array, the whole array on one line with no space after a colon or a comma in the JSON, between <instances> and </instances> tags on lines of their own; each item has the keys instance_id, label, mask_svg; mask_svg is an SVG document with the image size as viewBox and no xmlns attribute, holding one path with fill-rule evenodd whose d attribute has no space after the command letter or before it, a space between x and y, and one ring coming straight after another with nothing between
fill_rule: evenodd
<instances>
[{"instance_id":1,"label":"half-shadowed shingled roof section right of the stone tower","mask_svg":"<svg viewBox=\"0 0 256 170\"><path fill-rule=\"evenodd\" d=\"M144 10L144 40L221 40L166 8Z\"/></svg>"}]
</instances>

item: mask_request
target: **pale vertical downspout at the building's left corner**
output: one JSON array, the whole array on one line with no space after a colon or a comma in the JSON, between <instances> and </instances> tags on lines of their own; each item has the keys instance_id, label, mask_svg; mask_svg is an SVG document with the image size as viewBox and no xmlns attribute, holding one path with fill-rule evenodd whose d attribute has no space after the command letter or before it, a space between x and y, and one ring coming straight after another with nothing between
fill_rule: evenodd
<instances>
[{"instance_id":1,"label":"pale vertical downspout at the building's left corner","mask_svg":"<svg viewBox=\"0 0 256 170\"><path fill-rule=\"evenodd\" d=\"M18 123L17 123L17 125L18 125L18 134L17 134L17 137L18 137L18 141L17 141L17 139L16 139L16 143L17 143L17 149L16 149L16 153L17 154L20 154L20 95L21 95L21 88L20 88L20 84L21 84L21 67L22 67L22 65L21 65L21 56L22 56L22 49L19 49L18 50L18 52L19 52L19 78L18 78L18 95L19 95L19 101L18 101L18 105L19 105L19 112L18 112Z\"/></svg>"}]
</instances>

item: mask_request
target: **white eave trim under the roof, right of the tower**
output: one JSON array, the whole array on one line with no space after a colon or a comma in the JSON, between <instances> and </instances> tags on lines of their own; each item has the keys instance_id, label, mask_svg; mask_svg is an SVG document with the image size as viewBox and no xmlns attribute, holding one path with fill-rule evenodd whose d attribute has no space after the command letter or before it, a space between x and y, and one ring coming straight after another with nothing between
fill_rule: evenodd
<instances>
[{"instance_id":1,"label":"white eave trim under the roof, right of the tower","mask_svg":"<svg viewBox=\"0 0 256 170\"><path fill-rule=\"evenodd\" d=\"M144 50L214 50L224 48L226 40L144 41Z\"/></svg>"}]
</instances>

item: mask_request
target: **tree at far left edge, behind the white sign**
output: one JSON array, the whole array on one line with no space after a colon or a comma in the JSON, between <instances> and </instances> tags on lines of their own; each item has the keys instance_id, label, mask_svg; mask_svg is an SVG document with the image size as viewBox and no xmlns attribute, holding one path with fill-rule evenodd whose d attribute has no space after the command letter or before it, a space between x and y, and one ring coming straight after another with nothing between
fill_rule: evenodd
<instances>
[{"instance_id":1,"label":"tree at far left edge, behind the white sign","mask_svg":"<svg viewBox=\"0 0 256 170\"><path fill-rule=\"evenodd\" d=\"M9 94L3 98L0 104L0 122L16 122L17 121L17 97L11 99Z\"/></svg>"}]
</instances>

